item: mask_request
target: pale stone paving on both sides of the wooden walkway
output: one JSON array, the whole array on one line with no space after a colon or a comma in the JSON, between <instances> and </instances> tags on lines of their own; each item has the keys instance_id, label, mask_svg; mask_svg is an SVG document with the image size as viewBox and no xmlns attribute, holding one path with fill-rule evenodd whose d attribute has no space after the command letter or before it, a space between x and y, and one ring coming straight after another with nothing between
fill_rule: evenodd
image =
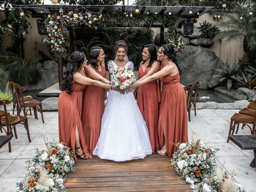
<instances>
[{"instance_id":1,"label":"pale stone paving on both sides of the wooden walkway","mask_svg":"<svg viewBox=\"0 0 256 192\"><path fill-rule=\"evenodd\" d=\"M234 176L247 192L256 190L256 169L249 166L253 159L252 150L241 150L232 142L226 143L230 117L238 110L197 110L197 116L191 112L191 122L188 122L189 139L199 137L208 146L215 146L220 150L217 152L217 160L224 164L224 168ZM58 140L58 112L44 112L44 124L42 119L36 120L34 116L28 116L30 137L28 137L24 126L17 127L18 139L12 138L12 152L8 152L8 144L0 149L0 191L13 192L16 182L22 181L26 174L24 164L33 158L33 147L42 149L45 147L42 134L48 140ZM238 134L250 134L249 128L239 130ZM4 135L4 133L0 133Z\"/></svg>"}]
</instances>

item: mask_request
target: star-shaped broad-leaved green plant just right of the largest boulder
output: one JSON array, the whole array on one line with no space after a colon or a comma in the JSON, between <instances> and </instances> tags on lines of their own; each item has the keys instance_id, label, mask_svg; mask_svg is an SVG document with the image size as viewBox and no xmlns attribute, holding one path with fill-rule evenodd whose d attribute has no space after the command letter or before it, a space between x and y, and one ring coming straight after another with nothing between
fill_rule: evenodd
<instances>
[{"instance_id":1,"label":"star-shaped broad-leaved green plant just right of the largest boulder","mask_svg":"<svg viewBox=\"0 0 256 192\"><path fill-rule=\"evenodd\" d=\"M212 76L212 78L220 78L220 82L225 80L225 84L228 89L231 89L232 87L232 81L236 79L236 74L238 70L236 69L237 67L237 62L234 62L233 66L230 68L229 64L226 63L222 66L221 69L215 69L218 71L217 75ZM239 77L237 77L239 78ZM236 79L237 80L237 79Z\"/></svg>"}]
</instances>

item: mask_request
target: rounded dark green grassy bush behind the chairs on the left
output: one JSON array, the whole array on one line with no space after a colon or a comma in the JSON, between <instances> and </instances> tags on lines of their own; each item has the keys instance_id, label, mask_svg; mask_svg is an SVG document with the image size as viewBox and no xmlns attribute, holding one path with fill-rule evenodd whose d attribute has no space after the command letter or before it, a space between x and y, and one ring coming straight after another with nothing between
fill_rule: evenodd
<instances>
[{"instance_id":1,"label":"rounded dark green grassy bush behind the chairs on the left","mask_svg":"<svg viewBox=\"0 0 256 192\"><path fill-rule=\"evenodd\" d=\"M10 80L20 85L36 84L41 80L40 71L28 60L12 62L8 64L8 69L10 72Z\"/></svg>"}]
</instances>

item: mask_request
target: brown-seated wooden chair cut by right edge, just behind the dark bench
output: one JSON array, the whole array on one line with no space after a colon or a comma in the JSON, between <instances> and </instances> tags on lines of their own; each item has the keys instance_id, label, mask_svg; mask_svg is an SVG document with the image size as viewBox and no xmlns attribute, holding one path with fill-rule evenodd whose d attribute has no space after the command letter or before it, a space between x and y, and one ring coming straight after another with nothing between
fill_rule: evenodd
<instances>
[{"instance_id":1,"label":"brown-seated wooden chair cut by right edge, just behind the dark bench","mask_svg":"<svg viewBox=\"0 0 256 192\"><path fill-rule=\"evenodd\" d=\"M239 129L239 124L243 124L242 125L242 129L244 128L244 126L248 126L251 130L251 134L255 135L255 127L256 127L256 110L254 112L254 116L251 115L245 115L245 114L240 114L240 113L235 113L232 117L231 117L231 121L230 121L230 127L229 127L229 132L228 132L228 136L233 135L234 131L236 129L236 134L238 132ZM252 127L249 125L252 124ZM237 125L237 128L236 128ZM232 131L232 133L231 133ZM227 140L227 143L229 141L229 138Z\"/></svg>"}]
</instances>

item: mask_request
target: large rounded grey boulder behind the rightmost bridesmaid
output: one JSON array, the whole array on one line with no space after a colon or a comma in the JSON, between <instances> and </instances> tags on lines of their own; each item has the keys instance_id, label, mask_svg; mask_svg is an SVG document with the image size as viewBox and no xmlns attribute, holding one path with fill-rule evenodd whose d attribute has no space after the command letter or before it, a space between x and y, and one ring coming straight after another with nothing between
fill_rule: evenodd
<instances>
[{"instance_id":1,"label":"large rounded grey boulder behind the rightmost bridesmaid","mask_svg":"<svg viewBox=\"0 0 256 192\"><path fill-rule=\"evenodd\" d=\"M223 65L212 50L200 46L187 45L178 59L182 74L180 82L186 86L197 81L201 82L200 88L208 88L208 82L217 72L214 70Z\"/></svg>"}]
</instances>

